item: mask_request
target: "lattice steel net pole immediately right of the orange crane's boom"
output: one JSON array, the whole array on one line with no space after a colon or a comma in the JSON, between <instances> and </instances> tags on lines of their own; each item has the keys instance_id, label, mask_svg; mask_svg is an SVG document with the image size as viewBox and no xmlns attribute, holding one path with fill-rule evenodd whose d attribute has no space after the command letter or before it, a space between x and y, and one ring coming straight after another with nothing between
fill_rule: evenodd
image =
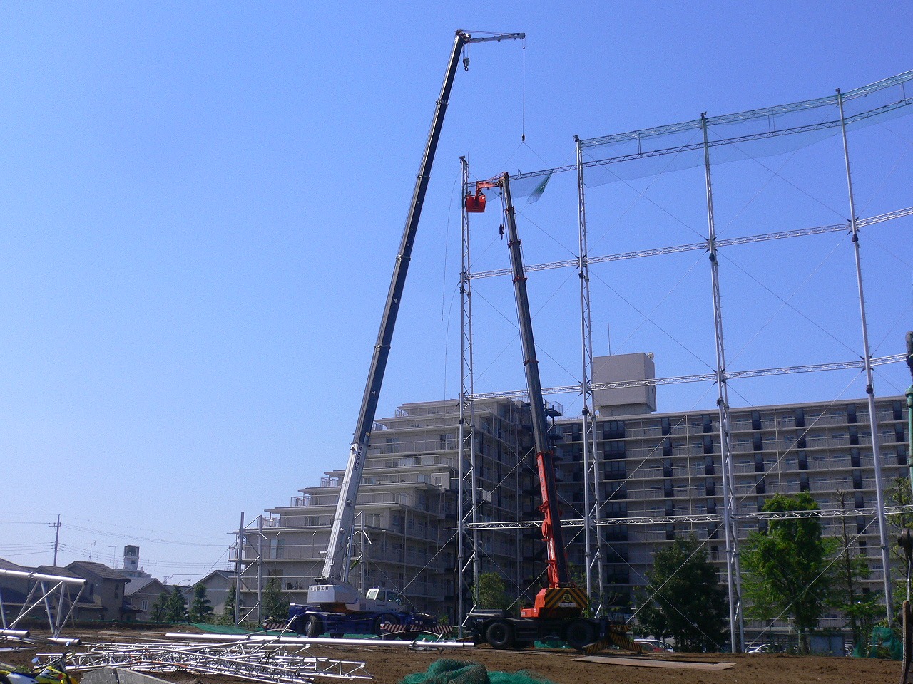
<instances>
[{"instance_id":1,"label":"lattice steel net pole immediately right of the orange crane's boom","mask_svg":"<svg viewBox=\"0 0 913 684\"><path fill-rule=\"evenodd\" d=\"M586 233L586 202L583 185L583 149L580 138L574 136L577 147L577 213L578 213L578 257L577 275L580 279L580 327L581 327L581 394L583 399L582 456L583 456L583 544L586 562L586 595L593 600L593 569L596 575L595 615L605 611L605 554L603 534L595 526L603 503L600 486L599 455L596 449L596 417L593 401L593 314L590 306L590 266ZM595 538L593 538L595 537ZM593 547L595 546L595 550Z\"/></svg>"}]
</instances>

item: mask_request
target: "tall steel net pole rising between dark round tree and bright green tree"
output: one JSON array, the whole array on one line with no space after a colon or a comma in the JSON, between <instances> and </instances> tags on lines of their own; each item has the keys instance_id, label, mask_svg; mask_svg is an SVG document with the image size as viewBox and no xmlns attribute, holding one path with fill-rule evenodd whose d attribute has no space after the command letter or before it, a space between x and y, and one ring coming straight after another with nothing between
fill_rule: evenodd
<instances>
[{"instance_id":1,"label":"tall steel net pole rising between dark round tree and bright green tree","mask_svg":"<svg viewBox=\"0 0 913 684\"><path fill-rule=\"evenodd\" d=\"M726 384L726 352L723 344L723 315L719 296L719 260L717 231L713 213L713 188L710 182L710 146L707 114L700 115L704 134L704 180L707 189L707 224L710 276L713 294L713 327L717 352L717 409L719 413L719 454L723 481L723 525L726 530L726 581L729 591L729 644L738 653L744 643L744 620L741 609L741 579L739 567L739 531L736 527L736 508L732 482L732 459L729 449L729 390Z\"/></svg>"}]
</instances>

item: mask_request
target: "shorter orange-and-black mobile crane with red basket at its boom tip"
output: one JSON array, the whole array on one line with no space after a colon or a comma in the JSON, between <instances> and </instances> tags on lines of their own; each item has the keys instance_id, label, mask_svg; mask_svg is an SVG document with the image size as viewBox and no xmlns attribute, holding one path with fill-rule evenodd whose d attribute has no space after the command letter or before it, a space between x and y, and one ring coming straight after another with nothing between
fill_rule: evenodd
<instances>
[{"instance_id":1,"label":"shorter orange-and-black mobile crane with red basket at its boom tip","mask_svg":"<svg viewBox=\"0 0 913 684\"><path fill-rule=\"evenodd\" d=\"M513 275L514 298L517 303L520 343L523 349L523 368L526 373L527 391L530 396L532 433L536 448L536 469L542 503L542 541L546 545L547 584L536 595L530 608L522 608L520 617L500 613L474 611L467 617L467 625L478 643L487 641L493 648L525 648L534 640L558 637L572 648L583 650L598 642L614 643L623 648L639 651L625 636L625 628L607 617L583 617L589 605L586 592L569 577L567 554L561 534L561 511L555 487L554 450L548 435L548 418L539 376L536 344L532 337L530 299L526 290L523 254L517 233L517 221L510 198L510 179L507 173L490 181L478 181L476 193L467 193L467 212L484 212L483 190L498 188L505 205L510 267ZM502 226L503 227L503 226Z\"/></svg>"}]
</instances>

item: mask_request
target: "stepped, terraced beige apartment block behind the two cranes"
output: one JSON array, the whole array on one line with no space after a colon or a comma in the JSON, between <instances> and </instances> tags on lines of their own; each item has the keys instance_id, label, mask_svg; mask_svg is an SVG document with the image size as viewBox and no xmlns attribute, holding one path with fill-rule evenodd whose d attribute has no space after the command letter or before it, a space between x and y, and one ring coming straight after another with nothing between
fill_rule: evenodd
<instances>
[{"instance_id":1,"label":"stepped, terraced beige apartment block behind the two cranes","mask_svg":"<svg viewBox=\"0 0 913 684\"><path fill-rule=\"evenodd\" d=\"M532 461L524 459L532 445L528 406L508 399L477 402L473 424L477 520L529 516L537 492ZM455 617L458 440L455 400L404 404L393 417L375 421L356 507L354 586L394 588L413 609ZM339 465L345 465L342 459ZM243 605L256 603L258 581L274 577L289 602L306 601L308 586L322 571L343 473L327 472L320 486L300 490L289 505L269 509L248 526ZM533 575L533 537L538 532L478 532L479 572L498 572L520 593ZM262 580L255 579L257 572Z\"/></svg>"}]
</instances>

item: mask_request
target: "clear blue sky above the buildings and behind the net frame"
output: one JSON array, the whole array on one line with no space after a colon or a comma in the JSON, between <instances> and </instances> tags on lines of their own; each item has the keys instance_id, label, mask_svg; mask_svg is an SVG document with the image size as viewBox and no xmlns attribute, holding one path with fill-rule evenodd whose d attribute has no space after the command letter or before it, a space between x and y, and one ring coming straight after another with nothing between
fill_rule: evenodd
<instances>
[{"instance_id":1,"label":"clear blue sky above the buildings and behind the net frame","mask_svg":"<svg viewBox=\"0 0 913 684\"><path fill-rule=\"evenodd\" d=\"M191 581L224 565L241 511L251 519L288 503L344 465L456 28L525 31L526 50L475 46L469 72L457 73L379 416L458 391L460 155L477 176L533 171L571 162L575 134L856 88L913 67L911 15L906 2L2 5L0 556L49 564L46 523L59 513L61 564L89 553L111 563L135 543L153 575ZM896 182L911 177L913 132L905 119L896 126L873 154L885 165L859 181L870 212L913 204L909 182ZM813 178L793 183L805 196L821 190ZM725 188L738 178L720 184L721 211L750 216L727 204ZM556 187L530 207L532 223L521 221L532 261L574 251L576 206ZM686 192L670 175L655 190L706 230L699 186ZM848 215L845 186L825 194ZM743 229L803 226L791 204L777 210ZM824 213L823 223L837 220ZM881 261L867 274L881 293L871 305L879 356L899 352L913 323L904 221L878 233ZM477 241L480 263L504 266L492 230ZM597 233L593 254L621 251L624 235ZM670 235L665 244L696 239ZM852 264L847 243L837 244L788 265L782 253L732 258L789 295L806 276L831 272L816 269L832 248L846 286ZM672 316L693 306L707 319L698 256L668 262L655 282L644 264L600 272L597 353L611 325L614 351L655 351L660 376L706 370L695 355L712 363L712 331L695 335L687 317ZM757 283L725 267L732 356L749 350L734 366L852 358L857 315L844 323L822 313L809 337L764 326L788 311L780 316L763 288L753 291L758 308L745 306L736 293ZM559 367L579 367L576 317L560 315L570 304L558 306L575 301L568 275L543 276L531 290L540 358L556 359L543 364L545 386L572 382ZM885 294L877 285L888 275L898 285ZM705 298L677 300L677 283L692 277ZM494 315L479 307L479 364L488 372L478 389L517 389L509 283L485 286ZM625 286L641 311L657 307L665 336L610 294ZM852 304L855 293L833 296ZM676 330L690 356L668 344ZM791 349L822 354L786 353L783 336ZM906 368L886 373L893 385L876 379L879 394L906 388ZM733 404L863 396L852 376L804 378L740 385ZM714 401L712 388L660 391L661 409Z\"/></svg>"}]
</instances>

